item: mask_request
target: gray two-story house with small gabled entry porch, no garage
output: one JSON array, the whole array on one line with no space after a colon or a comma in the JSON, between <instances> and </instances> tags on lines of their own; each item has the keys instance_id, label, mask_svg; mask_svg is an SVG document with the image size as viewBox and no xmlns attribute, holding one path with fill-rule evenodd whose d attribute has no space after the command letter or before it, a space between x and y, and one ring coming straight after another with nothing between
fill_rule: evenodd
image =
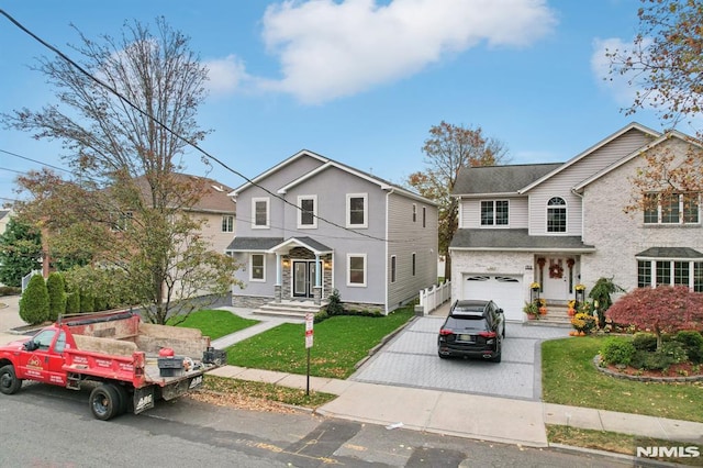
<instances>
[{"instance_id":1,"label":"gray two-story house with small gabled entry porch, no garage","mask_svg":"<svg viewBox=\"0 0 703 468\"><path fill-rule=\"evenodd\" d=\"M337 289L388 313L437 280L435 203L376 176L301 151L230 194L235 307L321 304Z\"/></svg>"}]
</instances>

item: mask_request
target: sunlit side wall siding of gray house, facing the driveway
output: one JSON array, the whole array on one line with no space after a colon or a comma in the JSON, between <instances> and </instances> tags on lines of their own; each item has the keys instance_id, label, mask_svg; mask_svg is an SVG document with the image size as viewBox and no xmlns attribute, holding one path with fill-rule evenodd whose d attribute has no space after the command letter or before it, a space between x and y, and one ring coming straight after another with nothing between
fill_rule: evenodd
<instances>
[{"instance_id":1,"label":"sunlit side wall siding of gray house, facing the driveway","mask_svg":"<svg viewBox=\"0 0 703 468\"><path fill-rule=\"evenodd\" d=\"M416 218L413 221L413 204ZM425 223L423 226L423 208ZM437 209L399 193L388 194L388 307L390 310L437 282ZM415 275L412 269L415 254ZM395 281L391 282L391 257Z\"/></svg>"}]
</instances>

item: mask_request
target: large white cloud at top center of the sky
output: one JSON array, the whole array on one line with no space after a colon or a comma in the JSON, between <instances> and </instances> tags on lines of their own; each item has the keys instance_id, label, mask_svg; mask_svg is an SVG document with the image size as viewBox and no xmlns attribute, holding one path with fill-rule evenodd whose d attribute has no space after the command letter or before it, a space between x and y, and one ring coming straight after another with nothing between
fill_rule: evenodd
<instances>
[{"instance_id":1,"label":"large white cloud at top center of the sky","mask_svg":"<svg viewBox=\"0 0 703 468\"><path fill-rule=\"evenodd\" d=\"M527 46L556 19L546 0L287 0L270 5L263 23L282 77L259 86L321 103L412 76L480 42Z\"/></svg>"}]
</instances>

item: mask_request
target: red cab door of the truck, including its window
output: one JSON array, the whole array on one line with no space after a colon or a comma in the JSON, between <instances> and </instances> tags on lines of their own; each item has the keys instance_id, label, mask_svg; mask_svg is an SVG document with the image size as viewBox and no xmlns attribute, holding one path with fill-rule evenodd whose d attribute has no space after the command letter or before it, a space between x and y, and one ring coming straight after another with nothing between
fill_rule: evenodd
<instances>
[{"instance_id":1,"label":"red cab door of the truck, including its window","mask_svg":"<svg viewBox=\"0 0 703 468\"><path fill-rule=\"evenodd\" d=\"M66 385L64 348L66 333L57 330L44 330L32 338L34 349L20 354L20 374L41 382Z\"/></svg>"}]
</instances>

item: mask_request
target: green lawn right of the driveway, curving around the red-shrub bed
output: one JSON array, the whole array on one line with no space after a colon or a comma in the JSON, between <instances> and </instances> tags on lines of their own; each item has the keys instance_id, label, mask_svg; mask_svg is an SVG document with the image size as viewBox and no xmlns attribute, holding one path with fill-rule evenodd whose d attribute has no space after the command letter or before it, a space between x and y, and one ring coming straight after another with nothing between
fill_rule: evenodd
<instances>
[{"instance_id":1,"label":"green lawn right of the driveway, curving around the red-shrub bed","mask_svg":"<svg viewBox=\"0 0 703 468\"><path fill-rule=\"evenodd\" d=\"M601 374L592 360L604 339L583 336L542 344L545 402L703 422L703 382L638 382Z\"/></svg>"}]
</instances>

